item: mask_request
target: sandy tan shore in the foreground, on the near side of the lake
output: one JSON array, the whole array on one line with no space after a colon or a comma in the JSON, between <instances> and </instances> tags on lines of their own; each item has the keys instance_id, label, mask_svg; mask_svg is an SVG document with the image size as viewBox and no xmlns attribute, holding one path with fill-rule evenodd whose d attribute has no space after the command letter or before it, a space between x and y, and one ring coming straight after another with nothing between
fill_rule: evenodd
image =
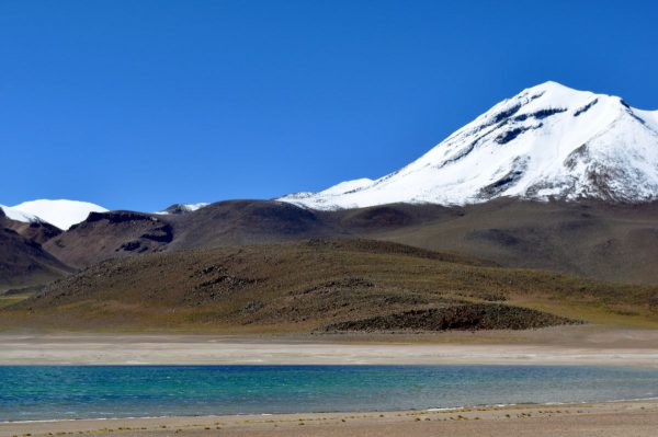
<instances>
[{"instance_id":1,"label":"sandy tan shore in the foreground, on the near side of the lake","mask_svg":"<svg viewBox=\"0 0 658 437\"><path fill-rule=\"evenodd\" d=\"M147 436L656 436L658 401L450 411L276 414L2 423L0 437Z\"/></svg>"}]
</instances>

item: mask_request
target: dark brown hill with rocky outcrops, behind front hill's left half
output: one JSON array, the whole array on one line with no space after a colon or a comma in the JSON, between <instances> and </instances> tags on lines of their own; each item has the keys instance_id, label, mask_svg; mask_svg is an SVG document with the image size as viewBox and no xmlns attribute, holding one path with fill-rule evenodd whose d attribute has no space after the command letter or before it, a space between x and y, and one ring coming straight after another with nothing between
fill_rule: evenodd
<instances>
[{"instance_id":1,"label":"dark brown hill with rocky outcrops, behind front hill's left half","mask_svg":"<svg viewBox=\"0 0 658 437\"><path fill-rule=\"evenodd\" d=\"M92 212L45 249L76 267L113 257L180 249L341 234L315 212L265 200L228 200L184 215Z\"/></svg>"}]
</instances>

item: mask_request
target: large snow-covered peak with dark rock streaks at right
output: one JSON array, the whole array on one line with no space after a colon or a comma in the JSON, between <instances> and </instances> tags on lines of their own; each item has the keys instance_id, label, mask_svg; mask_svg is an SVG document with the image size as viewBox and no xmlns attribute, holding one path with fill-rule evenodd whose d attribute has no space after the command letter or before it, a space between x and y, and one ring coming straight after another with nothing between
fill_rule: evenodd
<instances>
[{"instance_id":1,"label":"large snow-covered peak with dark rock streaks at right","mask_svg":"<svg viewBox=\"0 0 658 437\"><path fill-rule=\"evenodd\" d=\"M650 200L658 197L658 111L546 82L498 103L401 170L356 181L279 200L316 209L499 196Z\"/></svg>"}]
</instances>

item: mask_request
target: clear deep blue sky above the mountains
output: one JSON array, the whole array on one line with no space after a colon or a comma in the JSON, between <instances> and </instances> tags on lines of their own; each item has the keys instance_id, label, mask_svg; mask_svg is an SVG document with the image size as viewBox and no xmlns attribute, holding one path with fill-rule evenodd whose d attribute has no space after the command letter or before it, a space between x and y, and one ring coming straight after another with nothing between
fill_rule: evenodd
<instances>
[{"instance_id":1,"label":"clear deep blue sky above the mountains","mask_svg":"<svg viewBox=\"0 0 658 437\"><path fill-rule=\"evenodd\" d=\"M377 177L556 80L658 108L654 1L0 2L0 204Z\"/></svg>"}]
</instances>

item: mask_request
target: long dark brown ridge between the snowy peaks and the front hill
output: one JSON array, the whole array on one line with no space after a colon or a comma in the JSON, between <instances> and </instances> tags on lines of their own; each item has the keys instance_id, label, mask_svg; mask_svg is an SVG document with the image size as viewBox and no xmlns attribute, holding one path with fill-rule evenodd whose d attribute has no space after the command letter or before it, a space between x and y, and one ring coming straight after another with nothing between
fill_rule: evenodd
<instances>
[{"instance_id":1,"label":"long dark brown ridge between the snowy peaks and the front hill","mask_svg":"<svg viewBox=\"0 0 658 437\"><path fill-rule=\"evenodd\" d=\"M45 249L83 267L150 252L326 237L394 241L509 267L658 284L658 203L497 199L466 207L396 204L314 211L279 202L230 200L185 215L93 214Z\"/></svg>"}]
</instances>

